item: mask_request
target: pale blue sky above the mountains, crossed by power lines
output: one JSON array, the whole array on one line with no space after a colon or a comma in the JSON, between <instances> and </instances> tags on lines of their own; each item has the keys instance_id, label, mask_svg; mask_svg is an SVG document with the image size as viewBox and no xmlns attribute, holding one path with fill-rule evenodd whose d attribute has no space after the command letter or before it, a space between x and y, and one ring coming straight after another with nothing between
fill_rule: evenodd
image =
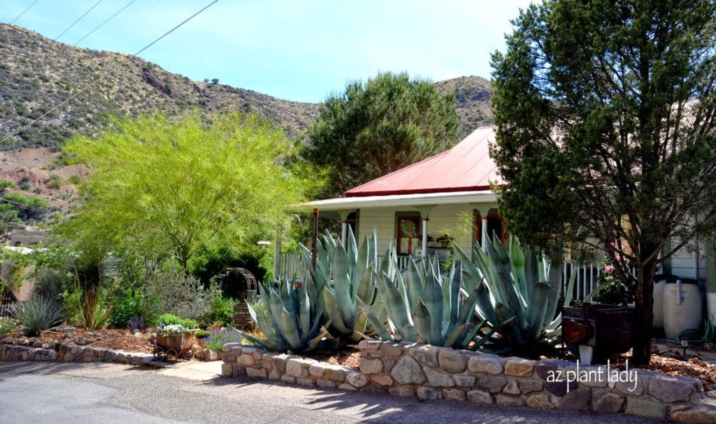
<instances>
[{"instance_id":1,"label":"pale blue sky above the mountains, crossed by power lines","mask_svg":"<svg viewBox=\"0 0 716 424\"><path fill-rule=\"evenodd\" d=\"M34 0L0 0L9 22ZM129 0L102 0L58 41L74 44ZM211 0L136 0L78 46L132 54ZM15 24L54 39L97 0L39 0ZM490 77L510 19L531 0L220 0L140 54L191 79L321 102L354 79L407 71Z\"/></svg>"}]
</instances>

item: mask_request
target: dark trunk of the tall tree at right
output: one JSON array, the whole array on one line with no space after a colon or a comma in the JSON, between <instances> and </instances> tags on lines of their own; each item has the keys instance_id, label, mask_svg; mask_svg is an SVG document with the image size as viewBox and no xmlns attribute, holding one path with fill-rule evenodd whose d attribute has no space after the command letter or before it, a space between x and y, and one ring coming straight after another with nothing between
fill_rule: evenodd
<instances>
[{"instance_id":1,"label":"dark trunk of the tall tree at right","mask_svg":"<svg viewBox=\"0 0 716 424\"><path fill-rule=\"evenodd\" d=\"M644 243L639 250L642 259L654 252L656 245ZM654 322L654 272L657 269L656 258L643 262L637 268L637 327L634 331L634 355L637 365L648 365L652 358L652 324Z\"/></svg>"}]
</instances>

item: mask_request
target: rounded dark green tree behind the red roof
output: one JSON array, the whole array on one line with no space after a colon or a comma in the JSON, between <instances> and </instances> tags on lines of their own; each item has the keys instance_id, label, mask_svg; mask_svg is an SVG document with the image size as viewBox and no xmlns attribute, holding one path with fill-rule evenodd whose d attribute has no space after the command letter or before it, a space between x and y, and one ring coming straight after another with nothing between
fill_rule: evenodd
<instances>
[{"instance_id":1,"label":"rounded dark green tree behind the red roof","mask_svg":"<svg viewBox=\"0 0 716 424\"><path fill-rule=\"evenodd\" d=\"M321 105L301 155L329 167L326 195L347 189L442 152L458 135L455 94L406 73L351 82Z\"/></svg>"}]
</instances>

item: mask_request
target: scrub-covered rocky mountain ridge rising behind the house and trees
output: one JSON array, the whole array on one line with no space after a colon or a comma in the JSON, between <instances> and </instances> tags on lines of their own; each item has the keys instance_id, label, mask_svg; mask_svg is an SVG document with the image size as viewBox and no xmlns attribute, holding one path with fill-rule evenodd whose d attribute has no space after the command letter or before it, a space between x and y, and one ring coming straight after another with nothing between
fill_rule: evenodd
<instances>
[{"instance_id":1,"label":"scrub-covered rocky mountain ridge rising behind the house and trees","mask_svg":"<svg viewBox=\"0 0 716 424\"><path fill-rule=\"evenodd\" d=\"M438 82L437 87L441 92L455 90L461 134L491 122L487 80L462 77ZM191 109L257 112L294 135L314 121L319 107L193 81L135 56L80 49L0 24L0 139L68 98L62 107L6 140L0 150L52 149L74 133L97 131L112 116L156 111L171 115Z\"/></svg>"}]
</instances>

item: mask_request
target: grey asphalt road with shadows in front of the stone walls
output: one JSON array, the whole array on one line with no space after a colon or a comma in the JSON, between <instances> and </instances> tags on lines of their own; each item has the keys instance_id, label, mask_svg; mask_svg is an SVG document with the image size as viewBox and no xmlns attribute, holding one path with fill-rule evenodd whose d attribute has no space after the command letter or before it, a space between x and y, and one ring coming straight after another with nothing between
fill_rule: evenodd
<instances>
[{"instance_id":1,"label":"grey asphalt road with shadows in front of the stone walls","mask_svg":"<svg viewBox=\"0 0 716 424\"><path fill-rule=\"evenodd\" d=\"M654 423L625 415L480 407L233 378L196 381L150 367L0 363L0 423Z\"/></svg>"}]
</instances>

